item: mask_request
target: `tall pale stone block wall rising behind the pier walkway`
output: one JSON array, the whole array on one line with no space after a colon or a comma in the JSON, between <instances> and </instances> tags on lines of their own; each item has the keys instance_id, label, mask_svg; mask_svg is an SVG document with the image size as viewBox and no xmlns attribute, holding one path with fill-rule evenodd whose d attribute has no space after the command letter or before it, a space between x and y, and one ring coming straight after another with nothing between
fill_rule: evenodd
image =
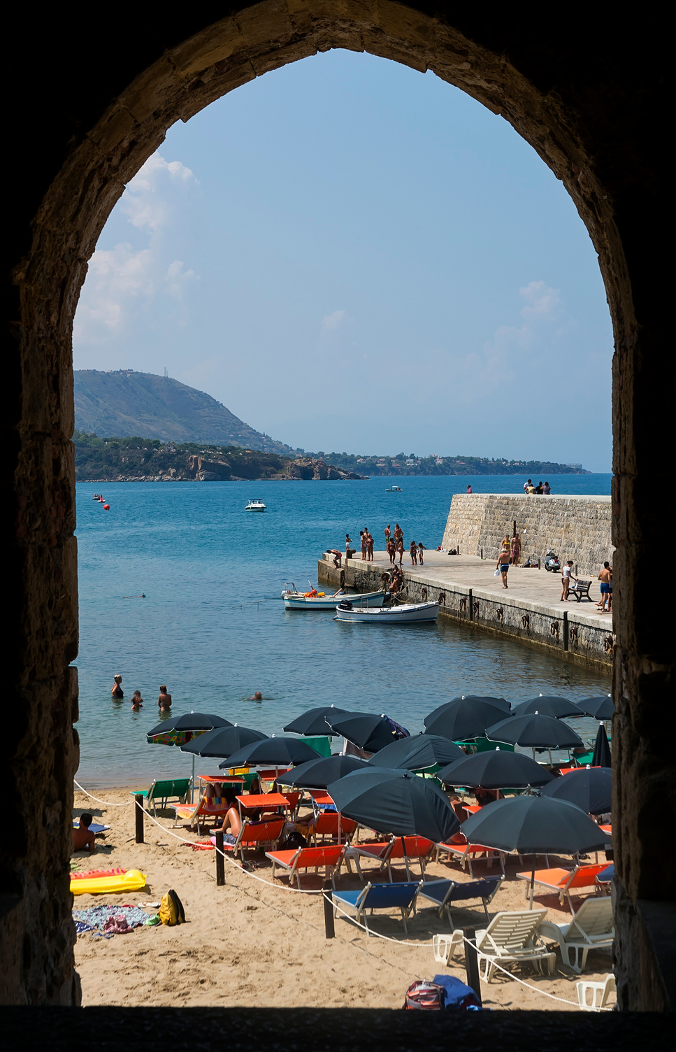
<instances>
[{"instance_id":1,"label":"tall pale stone block wall rising behind the pier walkway","mask_svg":"<svg viewBox=\"0 0 676 1052\"><path fill-rule=\"evenodd\" d=\"M535 497L503 493L455 493L451 501L443 547L463 554L497 558L500 541L521 538L521 562L534 554L542 562L553 548L572 559L580 573L594 576L608 559L612 563L610 497Z\"/></svg>"}]
</instances>

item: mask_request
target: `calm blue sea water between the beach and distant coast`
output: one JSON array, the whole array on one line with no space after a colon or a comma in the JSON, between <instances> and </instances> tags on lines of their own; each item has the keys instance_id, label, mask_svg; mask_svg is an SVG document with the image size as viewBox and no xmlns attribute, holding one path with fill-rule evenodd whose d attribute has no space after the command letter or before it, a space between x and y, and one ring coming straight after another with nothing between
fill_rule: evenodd
<instances>
[{"instance_id":1,"label":"calm blue sea water between the beach and distant coast","mask_svg":"<svg viewBox=\"0 0 676 1052\"><path fill-rule=\"evenodd\" d=\"M610 480L550 483L555 492L608 494ZM456 694L519 701L541 691L574 701L608 691L610 676L454 625L374 630L284 610L284 583L315 582L321 552L343 548L346 531L359 538L366 525L378 543L385 524L397 521L407 543L436 547L451 497L468 482L474 492L510 493L524 480L79 484L78 780L114 786L189 773L187 754L146 744L162 683L172 714L216 712L268 734L314 705L387 712L417 731L427 712ZM393 483L404 492L386 493ZM91 500L100 490L109 511ZM249 497L268 510L245 513ZM123 702L110 697L116 672ZM137 688L145 705L135 713ZM255 690L263 703L247 700ZM585 720L576 729L593 736L596 725ZM198 771L217 767L198 760Z\"/></svg>"}]
</instances>

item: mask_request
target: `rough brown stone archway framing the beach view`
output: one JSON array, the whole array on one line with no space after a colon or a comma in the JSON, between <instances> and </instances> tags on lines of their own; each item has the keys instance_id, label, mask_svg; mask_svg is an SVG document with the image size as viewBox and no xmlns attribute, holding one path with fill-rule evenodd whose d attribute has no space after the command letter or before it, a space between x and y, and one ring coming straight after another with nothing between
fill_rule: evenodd
<instances>
[{"instance_id":1,"label":"rough brown stone archway framing the beach view","mask_svg":"<svg viewBox=\"0 0 676 1052\"><path fill-rule=\"evenodd\" d=\"M641 67L640 97L628 86L630 31L618 43L600 20L588 23L580 39L577 29L567 31L554 18L534 27L526 15L509 12L487 22L445 2L265 0L232 3L222 14L222 7L214 11L213 21L204 13L166 16L161 26L148 20L128 49L120 46L120 28L111 27L88 64L68 27L56 34L45 25L30 29L36 64L42 61L36 92L43 100L53 92L60 116L39 177L32 175L18 194L11 245L14 343L5 466L13 497L5 523L17 605L8 648L15 751L7 792L16 817L6 831L3 869L3 999L77 1000L67 887L77 765L70 729L77 679L68 667L77 653L70 331L87 260L124 184L171 123L263 73L346 47L431 69L501 114L562 180L598 252L616 347L617 967L626 1007L663 1007L659 967L651 955L655 909L651 914L640 905L646 899L656 908L673 897L656 824L671 798L669 757L655 722L673 666L665 626L651 615L647 572L659 543L661 510L648 483L669 413L658 379L661 303L643 269L656 189L637 120L657 94L657 79ZM82 68L81 82L49 80L57 57ZM17 105L26 142L36 136L32 113ZM640 426L649 412L650 432Z\"/></svg>"}]
</instances>

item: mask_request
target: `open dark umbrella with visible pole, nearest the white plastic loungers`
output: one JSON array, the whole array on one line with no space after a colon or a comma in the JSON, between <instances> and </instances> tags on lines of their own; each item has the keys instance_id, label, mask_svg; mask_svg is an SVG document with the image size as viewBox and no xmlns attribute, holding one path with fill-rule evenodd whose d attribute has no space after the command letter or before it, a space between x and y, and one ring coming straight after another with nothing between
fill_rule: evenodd
<instances>
[{"instance_id":1,"label":"open dark umbrella with visible pole, nearest the white plastic loungers","mask_svg":"<svg viewBox=\"0 0 676 1052\"><path fill-rule=\"evenodd\" d=\"M487 804L463 823L463 833L470 844L533 855L531 909L536 854L602 851L608 844L608 836L589 814L575 804L549 796L512 796Z\"/></svg>"}]
</instances>

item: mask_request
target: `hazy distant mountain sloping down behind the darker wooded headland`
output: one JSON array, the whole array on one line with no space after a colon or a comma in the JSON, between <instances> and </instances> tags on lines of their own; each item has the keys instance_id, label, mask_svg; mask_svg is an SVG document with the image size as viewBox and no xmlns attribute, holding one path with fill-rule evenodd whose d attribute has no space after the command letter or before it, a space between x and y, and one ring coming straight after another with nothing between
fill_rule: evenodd
<instances>
[{"instance_id":1,"label":"hazy distant mountain sloping down behind the darker wooded headland","mask_svg":"<svg viewBox=\"0 0 676 1052\"><path fill-rule=\"evenodd\" d=\"M101 437L143 434L164 442L243 446L298 454L283 442L254 430L210 394L152 372L76 369L75 426Z\"/></svg>"}]
</instances>

